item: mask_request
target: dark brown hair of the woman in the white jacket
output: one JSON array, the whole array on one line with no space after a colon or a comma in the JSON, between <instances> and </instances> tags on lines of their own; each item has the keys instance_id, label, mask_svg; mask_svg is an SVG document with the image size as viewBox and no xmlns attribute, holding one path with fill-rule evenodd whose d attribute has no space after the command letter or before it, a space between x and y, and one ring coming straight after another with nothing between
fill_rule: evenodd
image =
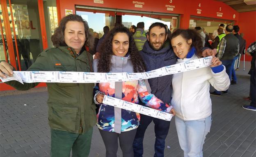
<instances>
[{"instance_id":1,"label":"dark brown hair of the woman in the white jacket","mask_svg":"<svg viewBox=\"0 0 256 157\"><path fill-rule=\"evenodd\" d=\"M200 58L202 56L203 42L200 34L194 29L177 29L171 34L171 39L181 35L186 40L192 39L191 47L195 47L197 50L196 55Z\"/></svg>"}]
</instances>

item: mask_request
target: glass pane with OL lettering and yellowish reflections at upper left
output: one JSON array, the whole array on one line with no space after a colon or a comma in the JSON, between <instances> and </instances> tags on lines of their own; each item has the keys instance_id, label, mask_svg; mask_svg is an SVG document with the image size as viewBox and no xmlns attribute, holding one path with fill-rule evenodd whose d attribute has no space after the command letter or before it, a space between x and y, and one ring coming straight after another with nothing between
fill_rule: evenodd
<instances>
[{"instance_id":1,"label":"glass pane with OL lettering and yellowish reflections at upper left","mask_svg":"<svg viewBox=\"0 0 256 157\"><path fill-rule=\"evenodd\" d=\"M11 1L12 3L12 1ZM41 28L39 21L37 0L24 0L11 4L15 32L11 15L9 15L11 25L11 35L13 38L14 54L18 67L18 58L21 63L21 70L27 70L30 65L36 60L40 52L43 51ZM9 4L7 5L8 12L10 11ZM16 42L14 38L16 36ZM17 49L18 48L18 54Z\"/></svg>"}]
</instances>

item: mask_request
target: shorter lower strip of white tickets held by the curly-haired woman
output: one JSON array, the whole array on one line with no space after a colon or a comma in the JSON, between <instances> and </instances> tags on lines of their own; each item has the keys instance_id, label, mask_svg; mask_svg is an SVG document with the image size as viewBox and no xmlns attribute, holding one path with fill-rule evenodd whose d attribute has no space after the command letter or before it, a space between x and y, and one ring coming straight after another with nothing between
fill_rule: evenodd
<instances>
[{"instance_id":1,"label":"shorter lower strip of white tickets held by the curly-haired woman","mask_svg":"<svg viewBox=\"0 0 256 157\"><path fill-rule=\"evenodd\" d=\"M153 108L148 108L142 105L138 105L136 103L131 103L128 101L123 101L121 99L113 98L111 96L104 96L103 102L104 104L111 105L117 108L121 108L124 110L129 110L133 112L137 112L140 114L145 114L147 116L163 119L166 121L171 121L172 114L167 112L162 112L159 110L155 110Z\"/></svg>"}]
</instances>

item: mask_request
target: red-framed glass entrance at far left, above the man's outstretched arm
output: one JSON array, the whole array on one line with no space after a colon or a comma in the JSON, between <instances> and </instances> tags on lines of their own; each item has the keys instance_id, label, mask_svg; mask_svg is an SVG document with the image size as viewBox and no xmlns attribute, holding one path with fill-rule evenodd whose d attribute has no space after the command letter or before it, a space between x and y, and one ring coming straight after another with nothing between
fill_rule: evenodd
<instances>
[{"instance_id":1,"label":"red-framed glass entrance at far left, above the man's outstretched arm","mask_svg":"<svg viewBox=\"0 0 256 157\"><path fill-rule=\"evenodd\" d=\"M10 60L16 70L27 70L43 51L38 7L40 0L0 1L1 20L5 19L1 21L3 37L1 34L0 59ZM6 55L3 43L5 43Z\"/></svg>"}]
</instances>

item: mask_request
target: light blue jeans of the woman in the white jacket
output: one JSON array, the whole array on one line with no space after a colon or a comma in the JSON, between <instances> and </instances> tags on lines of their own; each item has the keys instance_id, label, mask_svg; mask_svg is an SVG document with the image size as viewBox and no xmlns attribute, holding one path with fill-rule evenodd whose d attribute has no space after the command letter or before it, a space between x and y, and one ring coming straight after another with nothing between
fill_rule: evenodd
<instances>
[{"instance_id":1,"label":"light blue jeans of the woman in the white jacket","mask_svg":"<svg viewBox=\"0 0 256 157\"><path fill-rule=\"evenodd\" d=\"M203 144L211 124L211 116L194 121L184 121L175 116L178 140L184 157L203 157Z\"/></svg>"}]
</instances>

